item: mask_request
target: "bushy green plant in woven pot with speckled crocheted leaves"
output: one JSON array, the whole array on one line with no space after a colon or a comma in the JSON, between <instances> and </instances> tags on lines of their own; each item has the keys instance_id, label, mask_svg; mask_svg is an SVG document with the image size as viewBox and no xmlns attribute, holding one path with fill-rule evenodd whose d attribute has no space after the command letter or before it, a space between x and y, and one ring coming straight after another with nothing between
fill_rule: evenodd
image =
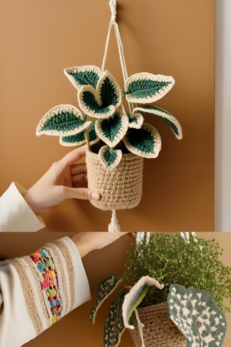
<instances>
[{"instance_id":1,"label":"bushy green plant in woven pot with speckled crocheted leaves","mask_svg":"<svg viewBox=\"0 0 231 347\"><path fill-rule=\"evenodd\" d=\"M146 237L144 237L146 234ZM103 280L89 319L119 289L104 327L104 347L119 345L125 328L137 347L220 347L231 311L231 268L213 240L194 233L138 233L123 276ZM229 299L228 307L224 299Z\"/></svg>"}]
</instances>

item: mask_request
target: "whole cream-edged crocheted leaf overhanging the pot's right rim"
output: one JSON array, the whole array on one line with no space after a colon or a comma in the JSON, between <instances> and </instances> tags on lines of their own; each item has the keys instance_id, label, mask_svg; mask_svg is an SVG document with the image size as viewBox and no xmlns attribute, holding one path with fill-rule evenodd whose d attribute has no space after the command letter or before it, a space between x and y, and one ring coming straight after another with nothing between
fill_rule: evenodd
<instances>
[{"instance_id":1,"label":"whole cream-edged crocheted leaf overhanging the pot's right rim","mask_svg":"<svg viewBox=\"0 0 231 347\"><path fill-rule=\"evenodd\" d=\"M124 136L124 143L130 152L144 158L156 158L161 149L158 131L147 123L140 129L130 129Z\"/></svg>"}]
</instances>

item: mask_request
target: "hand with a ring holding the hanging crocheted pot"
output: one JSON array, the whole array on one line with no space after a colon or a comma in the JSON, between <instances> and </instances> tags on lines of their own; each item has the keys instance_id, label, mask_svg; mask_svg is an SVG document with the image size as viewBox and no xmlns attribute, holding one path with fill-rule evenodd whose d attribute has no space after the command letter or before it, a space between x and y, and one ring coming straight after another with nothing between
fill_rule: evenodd
<instances>
[{"instance_id":1,"label":"hand with a ring holding the hanging crocheted pot","mask_svg":"<svg viewBox=\"0 0 231 347\"><path fill-rule=\"evenodd\" d=\"M64 158L53 163L43 177L23 194L35 214L51 212L69 198L100 199L98 192L80 187L81 183L87 182L87 169L85 163L76 163L85 156L85 152L86 146L81 146L66 154Z\"/></svg>"}]
</instances>

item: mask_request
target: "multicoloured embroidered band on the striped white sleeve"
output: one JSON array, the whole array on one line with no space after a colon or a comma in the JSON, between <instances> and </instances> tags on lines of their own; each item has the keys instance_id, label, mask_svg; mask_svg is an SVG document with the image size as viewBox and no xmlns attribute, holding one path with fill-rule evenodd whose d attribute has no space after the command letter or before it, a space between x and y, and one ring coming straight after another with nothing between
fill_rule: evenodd
<instances>
[{"instance_id":1,"label":"multicoloured embroidered band on the striped white sleeve","mask_svg":"<svg viewBox=\"0 0 231 347\"><path fill-rule=\"evenodd\" d=\"M62 302L59 297L59 289L57 287L56 274L49 263L49 257L46 255L44 249L38 249L35 253L29 255L30 259L37 265L38 270L41 272L44 281L41 283L42 290L45 290L47 299L50 303L50 310L52 313L53 324L60 316L62 309Z\"/></svg>"}]
</instances>

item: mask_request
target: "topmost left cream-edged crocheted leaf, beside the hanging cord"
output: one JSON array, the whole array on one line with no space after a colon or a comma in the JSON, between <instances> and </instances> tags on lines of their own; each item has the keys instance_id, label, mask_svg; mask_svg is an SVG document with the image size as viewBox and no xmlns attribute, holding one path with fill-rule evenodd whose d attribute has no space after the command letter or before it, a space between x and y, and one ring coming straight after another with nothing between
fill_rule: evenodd
<instances>
[{"instance_id":1,"label":"topmost left cream-edged crocheted leaf, beside the hanging cord","mask_svg":"<svg viewBox=\"0 0 231 347\"><path fill-rule=\"evenodd\" d=\"M82 85L89 84L95 88L102 72L97 66L85 65L68 67L64 69L64 74L73 86L79 90Z\"/></svg>"}]
</instances>

